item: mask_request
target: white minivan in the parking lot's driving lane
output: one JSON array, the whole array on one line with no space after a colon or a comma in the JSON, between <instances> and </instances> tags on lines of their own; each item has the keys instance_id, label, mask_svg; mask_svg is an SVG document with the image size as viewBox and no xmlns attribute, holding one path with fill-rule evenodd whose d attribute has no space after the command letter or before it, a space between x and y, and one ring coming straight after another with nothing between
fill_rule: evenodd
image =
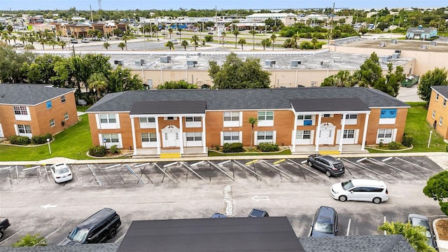
<instances>
[{"instance_id":1,"label":"white minivan in the parking lot's driving lane","mask_svg":"<svg viewBox=\"0 0 448 252\"><path fill-rule=\"evenodd\" d=\"M352 179L335 183L331 186L330 194L333 199L342 202L353 200L379 204L388 200L386 184L372 179Z\"/></svg>"}]
</instances>

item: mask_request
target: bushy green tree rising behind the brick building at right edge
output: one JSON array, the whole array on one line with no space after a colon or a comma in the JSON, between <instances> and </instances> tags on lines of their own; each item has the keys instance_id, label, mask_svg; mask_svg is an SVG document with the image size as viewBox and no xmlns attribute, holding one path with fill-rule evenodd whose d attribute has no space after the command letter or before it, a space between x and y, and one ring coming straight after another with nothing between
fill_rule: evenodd
<instances>
[{"instance_id":1,"label":"bushy green tree rising behind the brick building at right edge","mask_svg":"<svg viewBox=\"0 0 448 252\"><path fill-rule=\"evenodd\" d=\"M420 77L420 83L417 86L417 94L420 99L425 102L429 102L431 97L431 86L435 85L448 85L448 71L447 69L435 68L429 70Z\"/></svg>"}]
</instances>

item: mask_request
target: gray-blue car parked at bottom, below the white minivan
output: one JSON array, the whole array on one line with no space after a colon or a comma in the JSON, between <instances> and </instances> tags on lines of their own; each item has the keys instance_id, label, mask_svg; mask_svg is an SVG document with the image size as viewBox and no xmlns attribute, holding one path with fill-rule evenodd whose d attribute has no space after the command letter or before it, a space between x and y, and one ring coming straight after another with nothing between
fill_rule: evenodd
<instances>
[{"instance_id":1,"label":"gray-blue car parked at bottom, below the white minivan","mask_svg":"<svg viewBox=\"0 0 448 252\"><path fill-rule=\"evenodd\" d=\"M332 237L337 233L337 212L332 207L319 207L311 224L311 237Z\"/></svg>"}]
</instances>

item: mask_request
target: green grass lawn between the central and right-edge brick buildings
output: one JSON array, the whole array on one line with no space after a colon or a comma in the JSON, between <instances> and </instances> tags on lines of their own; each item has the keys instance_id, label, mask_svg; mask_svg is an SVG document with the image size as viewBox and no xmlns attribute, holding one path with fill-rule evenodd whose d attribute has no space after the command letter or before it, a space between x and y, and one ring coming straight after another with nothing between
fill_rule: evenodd
<instances>
[{"instance_id":1,"label":"green grass lawn between the central and right-edge brick buildings","mask_svg":"<svg viewBox=\"0 0 448 252\"><path fill-rule=\"evenodd\" d=\"M443 141L443 138L433 130L428 123L426 123L426 113L425 109L426 102L407 102L412 106L407 111L405 134L414 137L412 141L412 148L408 151L403 152L437 152L445 151L445 146L447 144ZM429 131L433 130L433 136L431 137L430 146L428 148ZM370 153L384 153L385 151L377 151L368 149Z\"/></svg>"}]
</instances>

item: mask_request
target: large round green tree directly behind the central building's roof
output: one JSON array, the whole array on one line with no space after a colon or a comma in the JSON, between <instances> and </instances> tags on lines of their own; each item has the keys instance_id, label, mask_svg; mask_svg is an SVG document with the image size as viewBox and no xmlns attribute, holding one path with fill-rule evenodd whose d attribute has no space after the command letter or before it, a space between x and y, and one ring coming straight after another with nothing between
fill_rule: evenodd
<instances>
[{"instance_id":1,"label":"large round green tree directly behind the central building's roof","mask_svg":"<svg viewBox=\"0 0 448 252\"><path fill-rule=\"evenodd\" d=\"M260 59L248 57L243 62L233 52L222 66L209 62L209 76L217 89L269 88L270 75L262 70Z\"/></svg>"}]
</instances>

